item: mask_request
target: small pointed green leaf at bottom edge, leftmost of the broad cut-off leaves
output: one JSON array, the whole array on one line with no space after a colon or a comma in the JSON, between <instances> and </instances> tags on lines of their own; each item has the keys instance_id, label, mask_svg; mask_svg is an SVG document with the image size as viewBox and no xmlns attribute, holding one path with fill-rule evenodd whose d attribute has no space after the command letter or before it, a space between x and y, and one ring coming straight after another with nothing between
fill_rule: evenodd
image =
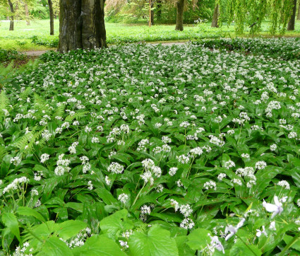
<instances>
[{"instance_id":1,"label":"small pointed green leaf at bottom edge, leftmost of the broad cut-off leaves","mask_svg":"<svg viewBox=\"0 0 300 256\"><path fill-rule=\"evenodd\" d=\"M72 250L68 248L66 243L54 236L46 240L44 246L42 246L42 251L49 256L73 255Z\"/></svg>"}]
</instances>

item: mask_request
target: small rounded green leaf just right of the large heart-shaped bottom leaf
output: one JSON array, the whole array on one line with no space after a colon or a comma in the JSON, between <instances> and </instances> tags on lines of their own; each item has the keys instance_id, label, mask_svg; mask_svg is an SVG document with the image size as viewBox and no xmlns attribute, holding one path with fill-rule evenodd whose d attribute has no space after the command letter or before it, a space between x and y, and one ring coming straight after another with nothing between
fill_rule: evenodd
<instances>
[{"instance_id":1,"label":"small rounded green leaf just right of the large heart-shaped bottom leaf","mask_svg":"<svg viewBox=\"0 0 300 256\"><path fill-rule=\"evenodd\" d=\"M210 231L203 228L197 228L188 235L188 241L186 242L193 250L203 250L208 243L210 243Z\"/></svg>"}]
</instances>

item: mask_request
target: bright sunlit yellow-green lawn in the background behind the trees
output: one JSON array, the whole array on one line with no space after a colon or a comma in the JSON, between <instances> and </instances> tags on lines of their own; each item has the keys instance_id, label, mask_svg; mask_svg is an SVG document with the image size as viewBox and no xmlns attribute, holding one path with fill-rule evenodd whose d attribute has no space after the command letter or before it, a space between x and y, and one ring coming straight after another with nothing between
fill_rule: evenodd
<instances>
[{"instance_id":1,"label":"bright sunlit yellow-green lawn in the background behind the trees","mask_svg":"<svg viewBox=\"0 0 300 256\"><path fill-rule=\"evenodd\" d=\"M9 23L0 25L0 48L3 50L49 50L59 44L59 21L54 21L54 35L49 35L49 20L32 21L26 25L25 21L15 21L15 30L8 30ZM194 23L185 27L184 31L174 30L174 25L147 25L106 23L107 44L115 45L127 42L162 42L188 41L220 37L235 37L234 25L222 28L211 28L210 23ZM258 34L262 37L273 37L270 34L270 23L263 22L262 30ZM249 37L250 29L245 30L244 37ZM300 21L296 21L295 30L284 34L286 37L300 35ZM280 36L277 33L275 36Z\"/></svg>"}]
</instances>

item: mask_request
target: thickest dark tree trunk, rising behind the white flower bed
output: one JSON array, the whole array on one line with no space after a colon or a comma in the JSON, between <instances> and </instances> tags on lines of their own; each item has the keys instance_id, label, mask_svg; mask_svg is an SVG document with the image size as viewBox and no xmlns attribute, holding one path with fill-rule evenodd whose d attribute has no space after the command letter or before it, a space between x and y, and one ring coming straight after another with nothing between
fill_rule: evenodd
<instances>
[{"instance_id":1,"label":"thickest dark tree trunk, rising behind the white flower bed","mask_svg":"<svg viewBox=\"0 0 300 256\"><path fill-rule=\"evenodd\" d=\"M60 0L59 51L106 47L104 0Z\"/></svg>"}]
</instances>

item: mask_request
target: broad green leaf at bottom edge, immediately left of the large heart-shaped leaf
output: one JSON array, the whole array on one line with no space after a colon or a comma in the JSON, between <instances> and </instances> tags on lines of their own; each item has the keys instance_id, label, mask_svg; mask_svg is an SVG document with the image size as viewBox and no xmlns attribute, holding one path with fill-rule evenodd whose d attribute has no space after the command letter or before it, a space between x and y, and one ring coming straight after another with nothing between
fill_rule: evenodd
<instances>
[{"instance_id":1,"label":"broad green leaf at bottom edge, immediately left of the large heart-shaped leaf","mask_svg":"<svg viewBox=\"0 0 300 256\"><path fill-rule=\"evenodd\" d=\"M72 250L74 256L79 255L111 255L111 256L125 256L126 253L122 252L113 240L105 237L104 235L93 235L85 241L85 244L79 248Z\"/></svg>"}]
</instances>

